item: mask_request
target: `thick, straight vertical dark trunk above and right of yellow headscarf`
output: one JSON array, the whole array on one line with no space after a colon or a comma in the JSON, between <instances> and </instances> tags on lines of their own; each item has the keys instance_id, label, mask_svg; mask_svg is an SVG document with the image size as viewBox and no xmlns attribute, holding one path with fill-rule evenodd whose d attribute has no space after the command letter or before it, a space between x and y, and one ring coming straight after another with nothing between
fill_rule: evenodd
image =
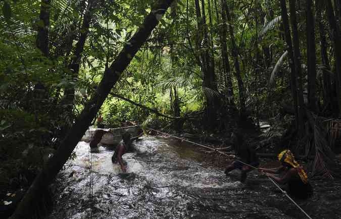
<instances>
[{"instance_id":1,"label":"thick, straight vertical dark trunk above and right of yellow headscarf","mask_svg":"<svg viewBox=\"0 0 341 219\"><path fill-rule=\"evenodd\" d=\"M308 61L308 107L316 112L316 47L313 1L306 0L307 13L307 61Z\"/></svg>"}]
</instances>

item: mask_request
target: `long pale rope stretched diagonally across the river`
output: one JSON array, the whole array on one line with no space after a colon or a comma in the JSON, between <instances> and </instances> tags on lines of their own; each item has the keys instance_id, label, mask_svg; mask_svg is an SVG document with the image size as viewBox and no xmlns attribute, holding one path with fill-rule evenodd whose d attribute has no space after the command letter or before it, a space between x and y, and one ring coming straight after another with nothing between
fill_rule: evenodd
<instances>
[{"instance_id":1,"label":"long pale rope stretched diagonally across the river","mask_svg":"<svg viewBox=\"0 0 341 219\"><path fill-rule=\"evenodd\" d=\"M186 141L186 142L189 142L189 143L191 143L191 144L195 144L195 145L198 145L198 146L201 146L201 147L204 147L204 148L207 148L207 149L210 149L210 150L214 150L215 152L217 152L217 153L219 153L219 154L223 154L223 155L225 155L225 156L229 156L230 157L230 155L229 154L227 154L227 153L224 153L224 152L222 152L222 151L219 151L219 150L217 150L217 149L215 149L215 148L213 148L213 147L209 147L209 146L206 146L206 145L203 145L203 144L199 144L199 143L196 143L196 142L193 142L193 141L189 141L189 140L187 140L187 139L184 139L184 138L180 138L180 137L177 137L177 136L174 136L174 135L171 135L171 134L168 134L168 133L165 133L165 132L161 132L161 131L159 131L159 130L155 130L155 129L152 129L152 128L149 128L149 127L145 127L145 128L147 128L147 129L149 129L149 130L152 130L152 131L155 131L155 132L158 132L158 133L161 133L161 134L164 134L164 135L168 135L168 136L170 136L170 137L173 137L173 138L176 138L176 139L179 139L179 140L182 140L182 141ZM235 159L236 161L238 161L238 162L240 162L240 163L242 163L243 165L246 165L246 166L248 166L248 167L250 167L250 168L253 168L253 169L255 169L255 170L258 170L258 168L256 168L256 167L254 167L254 166L252 166L252 165L249 165L248 163L246 163L246 162L243 162L243 161L241 161L241 160L238 160L238 159ZM292 199L287 193L286 193L286 191L284 191L273 179L271 179L270 177L268 177L268 179L291 201L291 202L293 202L308 218L310 218L310 219L312 219L311 218L311 216L309 216L301 207L300 207L300 205L298 205L295 201L294 201L294 199Z\"/></svg>"}]
</instances>

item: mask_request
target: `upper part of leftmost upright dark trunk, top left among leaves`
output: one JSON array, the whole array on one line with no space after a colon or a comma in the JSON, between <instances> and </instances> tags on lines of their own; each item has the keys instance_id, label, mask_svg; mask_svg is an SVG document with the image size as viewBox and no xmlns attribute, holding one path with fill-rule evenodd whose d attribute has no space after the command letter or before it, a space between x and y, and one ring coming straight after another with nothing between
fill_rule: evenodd
<instances>
[{"instance_id":1,"label":"upper part of leftmost upright dark trunk, top left among leaves","mask_svg":"<svg viewBox=\"0 0 341 219\"><path fill-rule=\"evenodd\" d=\"M51 0L41 0L36 45L48 57L48 27L50 26Z\"/></svg>"}]
</instances>

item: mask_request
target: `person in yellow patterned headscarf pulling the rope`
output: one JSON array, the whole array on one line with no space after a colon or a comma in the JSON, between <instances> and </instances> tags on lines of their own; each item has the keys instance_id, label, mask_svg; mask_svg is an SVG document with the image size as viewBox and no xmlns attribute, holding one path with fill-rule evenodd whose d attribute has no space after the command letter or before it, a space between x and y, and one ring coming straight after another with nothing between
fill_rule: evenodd
<instances>
[{"instance_id":1,"label":"person in yellow patterned headscarf pulling the rope","mask_svg":"<svg viewBox=\"0 0 341 219\"><path fill-rule=\"evenodd\" d=\"M259 168L260 172L265 173L267 177L274 179L279 184L286 184L287 192L297 198L308 198L313 190L308 181L307 173L303 167L295 160L294 154L290 150L283 150L278 154L278 160L282 166L277 169ZM278 177L274 174L281 174Z\"/></svg>"}]
</instances>

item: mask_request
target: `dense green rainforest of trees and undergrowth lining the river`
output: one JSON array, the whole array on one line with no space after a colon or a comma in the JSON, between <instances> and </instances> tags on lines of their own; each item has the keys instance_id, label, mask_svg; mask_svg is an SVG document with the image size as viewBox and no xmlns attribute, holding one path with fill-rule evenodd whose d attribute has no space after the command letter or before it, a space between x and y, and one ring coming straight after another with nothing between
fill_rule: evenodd
<instances>
[{"instance_id":1,"label":"dense green rainforest of trees and undergrowth lining the river","mask_svg":"<svg viewBox=\"0 0 341 219\"><path fill-rule=\"evenodd\" d=\"M337 177L340 0L0 7L0 193L31 186L13 218L32 213L39 190L98 123L223 146L238 129L261 136L251 141L262 153L288 148L312 176Z\"/></svg>"}]
</instances>

